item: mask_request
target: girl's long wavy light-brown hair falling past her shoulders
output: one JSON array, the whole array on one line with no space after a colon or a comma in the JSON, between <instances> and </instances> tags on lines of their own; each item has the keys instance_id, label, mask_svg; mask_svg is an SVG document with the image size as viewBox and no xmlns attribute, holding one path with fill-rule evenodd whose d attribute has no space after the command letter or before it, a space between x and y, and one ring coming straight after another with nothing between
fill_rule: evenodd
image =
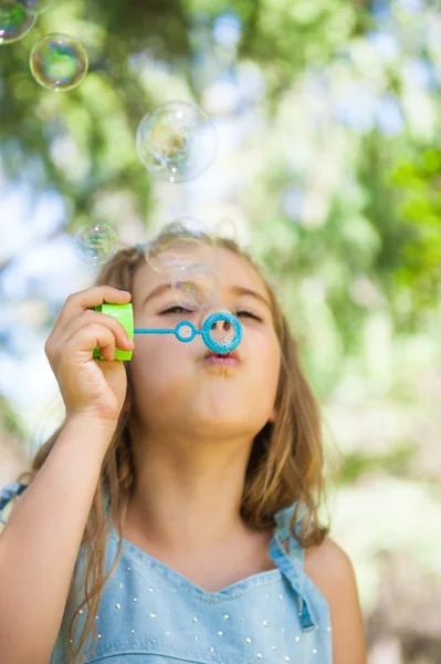
<instances>
[{"instance_id":1,"label":"girl's long wavy light-brown hair falling past her shoulders","mask_svg":"<svg viewBox=\"0 0 441 664\"><path fill-rule=\"evenodd\" d=\"M183 239L188 230L165 227L153 240L151 246L167 246L169 239ZM253 529L267 529L275 525L275 513L296 501L291 530L303 549L321 544L329 531L318 520L318 508L326 499L324 478L324 445L322 416L318 404L301 366L298 346L290 331L288 322L276 300L273 288L262 273L261 267L251 255L227 238L206 238L216 246L227 249L246 260L267 288L275 332L281 347L281 370L276 392L276 419L266 424L255 436L251 449L241 502L244 522ZM134 274L145 262L139 247L119 250L106 262L95 281L132 292ZM122 553L123 526L127 505L135 484L135 467L128 423L130 419L130 371L127 371L127 394L118 424L103 460L99 479L86 521L82 546L85 556L83 599L74 610L69 624L69 664L78 664L82 651L93 636L87 657L96 646L97 614L102 593L107 579L115 569ZM34 455L30 470L21 474L19 481L31 483L56 444L61 425ZM325 500L326 501L326 500ZM108 506L108 508L107 508ZM303 516L300 509L303 506ZM295 528L297 525L297 529ZM112 526L119 536L119 546L111 569L105 573L106 539ZM74 589L73 574L69 598ZM67 599L69 599L67 598ZM74 643L74 624L83 608L86 618L77 643Z\"/></svg>"}]
</instances>

